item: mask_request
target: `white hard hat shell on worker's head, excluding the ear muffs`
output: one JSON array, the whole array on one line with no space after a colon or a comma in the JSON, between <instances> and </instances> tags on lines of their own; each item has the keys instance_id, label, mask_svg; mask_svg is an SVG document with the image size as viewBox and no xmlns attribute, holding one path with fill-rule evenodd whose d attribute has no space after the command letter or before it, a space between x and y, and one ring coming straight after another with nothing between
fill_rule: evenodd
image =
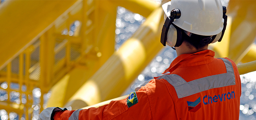
<instances>
[{"instance_id":1,"label":"white hard hat shell on worker's head, excluding the ear muffs","mask_svg":"<svg viewBox=\"0 0 256 120\"><path fill-rule=\"evenodd\" d=\"M188 32L211 36L217 35L223 29L220 0L172 0L162 7L167 16L170 16L173 9L179 9L182 15L173 24Z\"/></svg>"}]
</instances>

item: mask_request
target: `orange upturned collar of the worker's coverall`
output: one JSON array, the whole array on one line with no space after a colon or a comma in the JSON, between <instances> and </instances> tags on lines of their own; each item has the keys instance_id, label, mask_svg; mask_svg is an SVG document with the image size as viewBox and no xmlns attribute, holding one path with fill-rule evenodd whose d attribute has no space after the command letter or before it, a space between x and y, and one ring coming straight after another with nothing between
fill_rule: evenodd
<instances>
[{"instance_id":1,"label":"orange upturned collar of the worker's coverall","mask_svg":"<svg viewBox=\"0 0 256 120\"><path fill-rule=\"evenodd\" d=\"M214 55L215 53L211 50L203 50L193 54L181 54L172 61L170 67L167 68L162 74L167 72L171 73L177 67L202 65L212 62L214 60Z\"/></svg>"}]
</instances>

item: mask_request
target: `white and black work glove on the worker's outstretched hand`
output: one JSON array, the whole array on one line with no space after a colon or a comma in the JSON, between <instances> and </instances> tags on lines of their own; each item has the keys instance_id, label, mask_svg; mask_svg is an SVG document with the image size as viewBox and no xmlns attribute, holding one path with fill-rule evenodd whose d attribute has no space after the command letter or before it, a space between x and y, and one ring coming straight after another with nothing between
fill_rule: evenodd
<instances>
[{"instance_id":1,"label":"white and black work glove on the worker's outstretched hand","mask_svg":"<svg viewBox=\"0 0 256 120\"><path fill-rule=\"evenodd\" d=\"M55 112L71 110L71 109L72 109L71 106L69 106L67 108L48 107L40 113L38 120L54 120L53 117L54 117Z\"/></svg>"}]
</instances>

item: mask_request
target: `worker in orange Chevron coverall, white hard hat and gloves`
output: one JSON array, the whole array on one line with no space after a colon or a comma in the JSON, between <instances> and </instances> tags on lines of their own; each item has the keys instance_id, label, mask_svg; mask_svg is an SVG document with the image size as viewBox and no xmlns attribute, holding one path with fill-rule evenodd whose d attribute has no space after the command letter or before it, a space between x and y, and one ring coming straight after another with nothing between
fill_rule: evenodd
<instances>
[{"instance_id":1,"label":"worker in orange Chevron coverall, white hard hat and gloves","mask_svg":"<svg viewBox=\"0 0 256 120\"><path fill-rule=\"evenodd\" d=\"M162 5L161 43L177 58L123 100L98 108L46 108L39 120L238 120L241 81L235 63L214 58L208 44L221 41L227 24L220 0L172 0Z\"/></svg>"}]
</instances>

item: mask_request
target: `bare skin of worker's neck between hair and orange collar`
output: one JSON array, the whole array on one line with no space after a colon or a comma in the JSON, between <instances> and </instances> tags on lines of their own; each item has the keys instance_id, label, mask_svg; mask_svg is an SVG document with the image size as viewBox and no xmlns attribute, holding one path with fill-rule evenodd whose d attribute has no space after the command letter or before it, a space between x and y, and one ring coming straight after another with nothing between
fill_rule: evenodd
<instances>
[{"instance_id":1,"label":"bare skin of worker's neck between hair and orange collar","mask_svg":"<svg viewBox=\"0 0 256 120\"><path fill-rule=\"evenodd\" d=\"M179 46L179 47L175 47L176 52L177 52L177 56L181 55L181 54L188 54L188 53L196 53L196 52L200 52L203 50L207 50L208 49L208 45L205 46L202 49L197 50L195 47L189 47L187 46L184 42Z\"/></svg>"}]
</instances>

